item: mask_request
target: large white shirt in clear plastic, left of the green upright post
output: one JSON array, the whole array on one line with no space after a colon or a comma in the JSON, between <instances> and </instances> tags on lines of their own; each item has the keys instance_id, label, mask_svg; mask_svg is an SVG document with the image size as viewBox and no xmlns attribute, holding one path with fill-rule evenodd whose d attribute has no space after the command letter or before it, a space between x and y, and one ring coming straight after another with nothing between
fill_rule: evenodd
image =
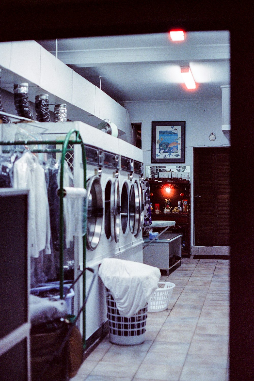
<instances>
[{"instance_id":1,"label":"large white shirt in clear plastic, left of the green upright post","mask_svg":"<svg viewBox=\"0 0 254 381\"><path fill-rule=\"evenodd\" d=\"M14 188L29 189L28 254L38 258L39 252L51 254L50 212L45 172L37 157L27 151L14 163Z\"/></svg>"}]
</instances>

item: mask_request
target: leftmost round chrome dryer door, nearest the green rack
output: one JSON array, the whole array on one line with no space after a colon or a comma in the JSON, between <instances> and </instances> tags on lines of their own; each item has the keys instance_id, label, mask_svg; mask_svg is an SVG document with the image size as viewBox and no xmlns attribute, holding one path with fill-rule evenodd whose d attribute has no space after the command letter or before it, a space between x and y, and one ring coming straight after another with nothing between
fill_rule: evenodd
<instances>
[{"instance_id":1,"label":"leftmost round chrome dryer door, nearest the green rack","mask_svg":"<svg viewBox=\"0 0 254 381\"><path fill-rule=\"evenodd\" d=\"M93 176L87 184L87 227L86 243L89 250L98 246L103 220L102 188L99 177Z\"/></svg>"}]
</instances>

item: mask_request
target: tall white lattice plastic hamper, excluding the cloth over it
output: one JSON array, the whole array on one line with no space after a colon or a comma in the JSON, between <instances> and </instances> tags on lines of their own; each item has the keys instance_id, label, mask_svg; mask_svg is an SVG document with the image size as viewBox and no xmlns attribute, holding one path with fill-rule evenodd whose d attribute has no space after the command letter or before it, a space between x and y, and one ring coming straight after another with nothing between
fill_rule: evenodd
<instances>
[{"instance_id":1,"label":"tall white lattice plastic hamper, excluding the cloth over it","mask_svg":"<svg viewBox=\"0 0 254 381\"><path fill-rule=\"evenodd\" d=\"M110 290L106 288L107 318L109 319L109 340L113 344L137 345L145 340L147 304L131 317L119 314Z\"/></svg>"}]
</instances>

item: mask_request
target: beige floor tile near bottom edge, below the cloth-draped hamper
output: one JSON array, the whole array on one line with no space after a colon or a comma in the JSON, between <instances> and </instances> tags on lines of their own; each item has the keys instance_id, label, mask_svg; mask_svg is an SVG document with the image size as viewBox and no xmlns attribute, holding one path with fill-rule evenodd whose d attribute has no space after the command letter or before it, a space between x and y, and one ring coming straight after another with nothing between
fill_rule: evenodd
<instances>
[{"instance_id":1,"label":"beige floor tile near bottom edge, below the cloth-draped hamper","mask_svg":"<svg viewBox=\"0 0 254 381\"><path fill-rule=\"evenodd\" d=\"M100 361L94 370L91 371L91 375L132 378L138 368L139 364L122 364Z\"/></svg>"}]
</instances>

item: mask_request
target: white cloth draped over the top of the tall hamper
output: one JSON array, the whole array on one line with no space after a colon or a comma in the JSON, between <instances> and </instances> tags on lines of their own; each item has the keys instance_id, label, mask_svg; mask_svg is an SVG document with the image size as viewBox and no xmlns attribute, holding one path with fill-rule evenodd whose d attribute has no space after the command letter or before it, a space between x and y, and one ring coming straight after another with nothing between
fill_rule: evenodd
<instances>
[{"instance_id":1,"label":"white cloth draped over the top of the tall hamper","mask_svg":"<svg viewBox=\"0 0 254 381\"><path fill-rule=\"evenodd\" d=\"M161 276L157 267L117 258L103 259L98 274L115 299L120 315L125 317L145 306Z\"/></svg>"}]
</instances>

